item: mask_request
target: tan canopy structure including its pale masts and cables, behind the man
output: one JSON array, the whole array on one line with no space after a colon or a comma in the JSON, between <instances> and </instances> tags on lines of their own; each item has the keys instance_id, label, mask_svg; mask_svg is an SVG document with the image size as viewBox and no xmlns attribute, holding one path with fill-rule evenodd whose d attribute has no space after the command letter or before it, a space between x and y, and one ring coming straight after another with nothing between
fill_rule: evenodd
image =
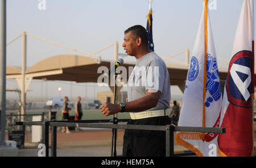
<instances>
[{"instance_id":1,"label":"tan canopy structure including its pale masts and cables, behind the man","mask_svg":"<svg viewBox=\"0 0 256 168\"><path fill-rule=\"evenodd\" d=\"M78 52L84 56L77 54L62 54L57 56L48 57L42 61L39 61L37 64L27 68L26 58L27 58L27 36L30 36L34 39L46 41L47 43L51 43L57 45L62 48L69 49L71 51ZM11 40L6 45L10 45L15 40L18 40L22 37L22 66L21 69L15 68L14 66L6 66L6 78L14 78L19 84L20 87L20 95L22 104L26 104L26 91L32 79L44 79L44 80L60 80L60 81L75 81L75 82L98 82L98 77L103 73L98 73L98 68L100 66L105 66L106 68L110 68L110 62L112 60L101 60L100 56L96 54L105 51L110 47L114 47L114 60L118 60L118 46L122 45L115 41L114 44L108 45L107 47L100 49L94 53L88 53L84 51L80 51L79 49L75 49L72 47L68 47L54 41L49 41L47 39L43 39L42 37L38 37L35 35L31 35L30 33L23 32L21 35L15 37L15 39ZM189 49L185 49L185 51L181 51L172 56L160 56L167 65L168 72L170 74L170 82L171 85L179 86L180 90L184 92L185 89L185 80L187 79L187 72L189 69ZM185 62L174 60L173 58L185 53ZM218 57L218 59L225 61L224 64L219 65L219 73L220 79L225 80L227 76L228 69L220 69L220 66L224 66L229 63L228 60ZM167 61L177 62L177 64L171 64ZM131 70L129 66L135 66L136 62L127 62L125 61L122 66L126 68L127 79L129 78L129 74ZM255 78L256 79L256 78ZM114 81L114 80L109 80ZM125 84L126 81L120 81L122 84ZM256 83L256 82L255 82ZM112 84L112 83L110 83ZM121 87L117 87L117 94L121 90ZM114 93L114 86L110 86L112 93ZM26 114L26 107L22 105L21 114ZM22 120L23 121L23 120Z\"/></svg>"}]
</instances>

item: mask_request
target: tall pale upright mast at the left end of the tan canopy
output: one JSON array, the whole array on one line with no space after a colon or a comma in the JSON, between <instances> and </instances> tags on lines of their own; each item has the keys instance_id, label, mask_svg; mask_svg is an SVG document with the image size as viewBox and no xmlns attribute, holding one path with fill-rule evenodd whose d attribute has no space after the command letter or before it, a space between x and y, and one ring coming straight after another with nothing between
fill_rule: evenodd
<instances>
[{"instance_id":1,"label":"tall pale upright mast at the left end of the tan canopy","mask_svg":"<svg viewBox=\"0 0 256 168\"><path fill-rule=\"evenodd\" d=\"M26 85L25 85L25 73L27 68L27 35L26 32L22 33L22 85L20 88L21 96L21 114L26 114ZM21 121L24 121L22 116Z\"/></svg>"}]
</instances>

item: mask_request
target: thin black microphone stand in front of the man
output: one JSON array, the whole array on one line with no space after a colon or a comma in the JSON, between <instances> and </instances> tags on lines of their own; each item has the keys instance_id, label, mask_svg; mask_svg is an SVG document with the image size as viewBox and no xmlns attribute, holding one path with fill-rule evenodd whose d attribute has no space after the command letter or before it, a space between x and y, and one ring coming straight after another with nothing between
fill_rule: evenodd
<instances>
[{"instance_id":1,"label":"thin black microphone stand in front of the man","mask_svg":"<svg viewBox=\"0 0 256 168\"><path fill-rule=\"evenodd\" d=\"M116 94L117 94L117 73L115 72L115 85L114 85L114 104L117 104ZM117 114L113 115L113 124L118 124ZM114 149L113 149L114 148ZM113 151L114 150L114 151ZM117 129L112 129L112 147L111 147L111 156L117 157Z\"/></svg>"}]
</instances>

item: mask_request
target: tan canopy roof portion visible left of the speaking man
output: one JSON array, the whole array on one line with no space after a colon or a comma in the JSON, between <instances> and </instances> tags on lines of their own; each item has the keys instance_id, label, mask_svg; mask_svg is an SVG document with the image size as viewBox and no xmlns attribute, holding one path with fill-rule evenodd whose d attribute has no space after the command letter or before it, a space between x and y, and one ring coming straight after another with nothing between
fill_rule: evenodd
<instances>
[{"instance_id":1,"label":"tan canopy roof portion visible left of the speaking man","mask_svg":"<svg viewBox=\"0 0 256 168\"><path fill-rule=\"evenodd\" d=\"M97 73L100 66L110 68L112 61L100 61L95 58L76 54L62 54L39 61L26 70L26 78L44 80L60 80L75 82L97 82L101 73ZM134 62L123 64L127 69L134 66ZM20 78L21 70L14 66L7 66L6 78Z\"/></svg>"}]
</instances>

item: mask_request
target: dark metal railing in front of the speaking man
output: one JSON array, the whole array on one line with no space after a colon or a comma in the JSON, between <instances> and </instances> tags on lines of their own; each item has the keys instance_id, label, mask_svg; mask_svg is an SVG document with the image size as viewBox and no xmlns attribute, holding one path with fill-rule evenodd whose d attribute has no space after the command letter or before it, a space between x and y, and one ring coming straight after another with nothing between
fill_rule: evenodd
<instances>
[{"instance_id":1,"label":"dark metal railing in front of the speaking man","mask_svg":"<svg viewBox=\"0 0 256 168\"><path fill-rule=\"evenodd\" d=\"M118 122L126 122L129 119L118 119ZM24 121L16 122L16 125L41 125L43 128L42 143L46 145L46 157L49 157L49 127L51 128L51 156L57 156L57 127L84 127L84 128L109 128L109 129L137 129L147 131L166 132L166 156L184 156L186 154L174 154L174 132L204 132L225 133L225 128L207 127L174 127L173 125L126 125L126 124L98 124L109 123L109 120L80 120L80 121ZM191 154L187 154L191 155Z\"/></svg>"}]
</instances>

